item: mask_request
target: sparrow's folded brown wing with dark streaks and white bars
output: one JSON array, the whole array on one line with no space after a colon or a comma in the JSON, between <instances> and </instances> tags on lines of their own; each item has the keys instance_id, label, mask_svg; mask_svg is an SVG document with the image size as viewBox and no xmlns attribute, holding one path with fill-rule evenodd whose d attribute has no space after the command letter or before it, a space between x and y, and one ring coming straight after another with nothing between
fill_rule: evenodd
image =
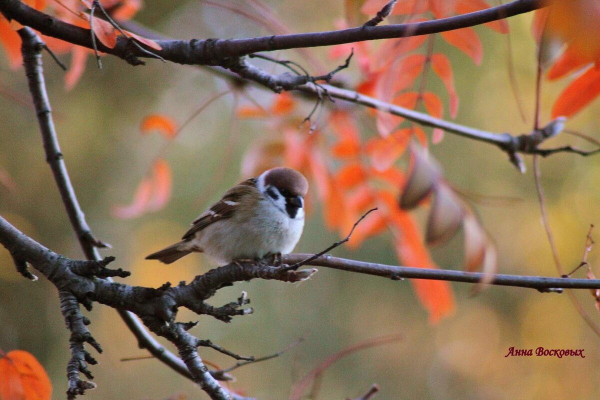
<instances>
[{"instance_id":1,"label":"sparrow's folded brown wing with dark streaks and white bars","mask_svg":"<svg viewBox=\"0 0 600 400\"><path fill-rule=\"evenodd\" d=\"M197 231L201 231L208 225L220 221L221 219L231 218L234 215L235 210L239 207L239 200L241 197L247 196L256 190L256 178L246 179L244 182L231 188L224 194L221 200L212 204L208 210L203 212L198 218L194 219L191 223L190 230L184 234L182 239L193 239L194 234Z\"/></svg>"}]
</instances>

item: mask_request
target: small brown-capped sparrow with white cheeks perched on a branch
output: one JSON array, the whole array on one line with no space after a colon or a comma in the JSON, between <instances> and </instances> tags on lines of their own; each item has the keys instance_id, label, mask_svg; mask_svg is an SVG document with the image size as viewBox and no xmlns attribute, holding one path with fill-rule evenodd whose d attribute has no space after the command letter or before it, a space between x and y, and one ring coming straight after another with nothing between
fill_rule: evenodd
<instances>
[{"instance_id":1,"label":"small brown-capped sparrow with white cheeks perched on a branch","mask_svg":"<svg viewBox=\"0 0 600 400\"><path fill-rule=\"evenodd\" d=\"M219 263L288 254L304 228L308 181L298 171L277 167L231 188L196 218L181 242L146 260L173 263L191 252L204 252Z\"/></svg>"}]
</instances>

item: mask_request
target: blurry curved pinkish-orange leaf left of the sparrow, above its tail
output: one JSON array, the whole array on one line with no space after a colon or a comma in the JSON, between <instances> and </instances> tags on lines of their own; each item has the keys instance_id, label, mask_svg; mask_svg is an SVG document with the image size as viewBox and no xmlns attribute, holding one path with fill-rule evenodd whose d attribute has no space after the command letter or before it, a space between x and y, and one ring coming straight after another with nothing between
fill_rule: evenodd
<instances>
[{"instance_id":1,"label":"blurry curved pinkish-orange leaf left of the sparrow, above its tail","mask_svg":"<svg viewBox=\"0 0 600 400\"><path fill-rule=\"evenodd\" d=\"M169 164L157 160L149 178L144 178L137 187L133 201L128 206L113 206L112 213L117 218L136 218L146 212L157 211L169 201L172 189L172 176Z\"/></svg>"}]
</instances>

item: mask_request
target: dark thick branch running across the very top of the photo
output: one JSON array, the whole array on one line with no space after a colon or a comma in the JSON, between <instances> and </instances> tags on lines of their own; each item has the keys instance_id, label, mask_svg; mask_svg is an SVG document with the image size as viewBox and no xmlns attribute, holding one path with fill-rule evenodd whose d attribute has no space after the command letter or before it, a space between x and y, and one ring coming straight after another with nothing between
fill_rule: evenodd
<instances>
[{"instance_id":1,"label":"dark thick branch running across the very top of the photo","mask_svg":"<svg viewBox=\"0 0 600 400\"><path fill-rule=\"evenodd\" d=\"M338 31L271 35L244 39L158 40L157 43L163 49L158 51L153 50L153 53L167 61L179 64L222 65L223 67L228 67L233 59L250 53L297 49L299 47L332 46L334 44L353 43L356 41L433 34L465 28L467 26L481 25L482 23L528 13L541 7L542 4L539 0L515 0L508 4L475 11L474 13L417 23L360 26L358 28L341 29ZM89 49L94 48L89 35L89 29L79 28L62 22L29 7L19 0L0 0L0 11L8 19L14 19L22 25L40 31L44 35L88 47ZM128 59L131 55L149 57L148 53L130 46L127 38L120 37L116 46L112 49L104 46L102 43L97 44L98 50L101 52L116 55L123 59Z\"/></svg>"}]
</instances>

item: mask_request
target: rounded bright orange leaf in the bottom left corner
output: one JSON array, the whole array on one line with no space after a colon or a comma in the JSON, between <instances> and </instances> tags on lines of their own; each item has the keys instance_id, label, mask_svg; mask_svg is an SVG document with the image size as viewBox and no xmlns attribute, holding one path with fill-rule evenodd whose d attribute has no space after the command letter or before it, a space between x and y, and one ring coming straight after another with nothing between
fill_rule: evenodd
<instances>
[{"instance_id":1,"label":"rounded bright orange leaf in the bottom left corner","mask_svg":"<svg viewBox=\"0 0 600 400\"><path fill-rule=\"evenodd\" d=\"M52 383L31 353L13 350L0 354L0 399L50 400Z\"/></svg>"}]
</instances>

